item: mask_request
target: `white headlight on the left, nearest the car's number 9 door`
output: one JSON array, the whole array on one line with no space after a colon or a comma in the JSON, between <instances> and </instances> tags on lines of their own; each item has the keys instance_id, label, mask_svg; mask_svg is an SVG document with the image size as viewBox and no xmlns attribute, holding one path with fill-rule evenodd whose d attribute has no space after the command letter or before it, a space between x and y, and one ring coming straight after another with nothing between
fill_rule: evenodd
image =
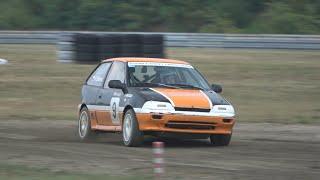
<instances>
[{"instance_id":1,"label":"white headlight on the left, nearest the car's number 9 door","mask_svg":"<svg viewBox=\"0 0 320 180\"><path fill-rule=\"evenodd\" d=\"M168 102L147 101L141 109L145 113L170 113L174 112L173 106Z\"/></svg>"}]
</instances>

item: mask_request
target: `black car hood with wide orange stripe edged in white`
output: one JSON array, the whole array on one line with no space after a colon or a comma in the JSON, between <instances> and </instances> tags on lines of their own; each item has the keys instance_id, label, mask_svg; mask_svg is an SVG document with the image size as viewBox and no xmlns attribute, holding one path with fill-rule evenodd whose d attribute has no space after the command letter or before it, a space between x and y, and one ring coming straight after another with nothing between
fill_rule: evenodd
<instances>
[{"instance_id":1,"label":"black car hood with wide orange stripe edged in white","mask_svg":"<svg viewBox=\"0 0 320 180\"><path fill-rule=\"evenodd\" d=\"M211 109L214 105L230 103L214 91L172 88L134 88L145 101L170 102L174 107Z\"/></svg>"}]
</instances>

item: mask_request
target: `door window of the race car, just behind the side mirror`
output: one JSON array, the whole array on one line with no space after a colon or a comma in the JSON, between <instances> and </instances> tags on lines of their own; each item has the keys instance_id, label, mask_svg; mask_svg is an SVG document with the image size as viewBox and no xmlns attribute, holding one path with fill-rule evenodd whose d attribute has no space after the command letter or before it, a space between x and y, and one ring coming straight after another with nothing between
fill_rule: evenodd
<instances>
[{"instance_id":1,"label":"door window of the race car, just behind the side mirror","mask_svg":"<svg viewBox=\"0 0 320 180\"><path fill-rule=\"evenodd\" d=\"M124 83L125 77L126 77L125 70L126 68L123 62L115 61L110 69L110 73L107 77L104 87L108 88L108 84L110 80L120 80L122 83Z\"/></svg>"}]
</instances>

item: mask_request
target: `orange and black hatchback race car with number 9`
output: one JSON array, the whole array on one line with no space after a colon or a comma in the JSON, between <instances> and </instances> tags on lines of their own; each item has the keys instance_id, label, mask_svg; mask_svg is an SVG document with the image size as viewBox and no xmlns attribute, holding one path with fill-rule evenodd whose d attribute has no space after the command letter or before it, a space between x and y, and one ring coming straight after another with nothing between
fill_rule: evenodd
<instances>
[{"instance_id":1,"label":"orange and black hatchback race car with number 9","mask_svg":"<svg viewBox=\"0 0 320 180\"><path fill-rule=\"evenodd\" d=\"M235 112L221 91L184 61L104 60L83 85L78 134L90 140L101 131L122 132L126 146L138 146L144 135L165 134L209 138L225 146Z\"/></svg>"}]
</instances>

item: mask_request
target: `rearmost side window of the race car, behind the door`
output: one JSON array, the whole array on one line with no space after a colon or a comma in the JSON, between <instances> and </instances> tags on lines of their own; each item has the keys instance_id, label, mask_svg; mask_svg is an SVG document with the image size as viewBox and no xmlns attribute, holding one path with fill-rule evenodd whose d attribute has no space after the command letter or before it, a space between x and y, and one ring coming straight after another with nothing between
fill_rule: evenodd
<instances>
[{"instance_id":1,"label":"rearmost side window of the race car, behind the door","mask_svg":"<svg viewBox=\"0 0 320 180\"><path fill-rule=\"evenodd\" d=\"M94 73L91 74L90 78L87 81L88 85L91 86L102 86L103 80L106 77L111 63L101 64Z\"/></svg>"}]
</instances>

